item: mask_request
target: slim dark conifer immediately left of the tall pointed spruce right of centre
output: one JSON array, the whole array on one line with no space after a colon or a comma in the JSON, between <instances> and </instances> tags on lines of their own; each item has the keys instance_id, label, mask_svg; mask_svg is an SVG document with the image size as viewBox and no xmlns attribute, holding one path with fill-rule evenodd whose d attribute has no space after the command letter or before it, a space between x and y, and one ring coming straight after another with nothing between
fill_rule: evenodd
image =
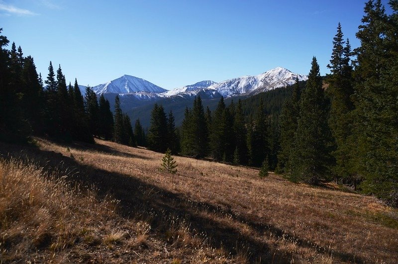
<instances>
[{"instance_id":1,"label":"slim dark conifer immediately left of the tall pointed spruce right of centre","mask_svg":"<svg viewBox=\"0 0 398 264\"><path fill-rule=\"evenodd\" d=\"M278 153L278 171L281 173L291 173L292 166L289 164L289 157L295 148L295 132L297 131L298 117L300 114L301 89L296 81L292 96L285 100L279 119L280 145Z\"/></svg>"}]
</instances>

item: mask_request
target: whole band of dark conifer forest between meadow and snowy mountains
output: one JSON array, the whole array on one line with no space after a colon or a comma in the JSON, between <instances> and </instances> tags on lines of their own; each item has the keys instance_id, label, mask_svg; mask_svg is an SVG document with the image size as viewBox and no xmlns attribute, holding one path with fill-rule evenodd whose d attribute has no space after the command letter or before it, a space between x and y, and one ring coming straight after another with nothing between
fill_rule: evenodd
<instances>
[{"instance_id":1,"label":"whole band of dark conifer forest between meadow and snowy mountains","mask_svg":"<svg viewBox=\"0 0 398 264\"><path fill-rule=\"evenodd\" d=\"M196 97L178 128L173 112L155 104L147 131L140 120L133 129L118 97L111 111L90 87L83 96L77 80L67 85L61 66L55 72L50 62L43 81L33 58L15 43L7 50L8 39L0 36L0 140L48 135L94 143L96 136L233 164L269 164L292 181L335 180L397 206L398 0L389 4L392 14L381 0L366 3L354 50L338 24L326 78L313 57L308 80L292 87L228 105L221 98L212 111Z\"/></svg>"}]
</instances>

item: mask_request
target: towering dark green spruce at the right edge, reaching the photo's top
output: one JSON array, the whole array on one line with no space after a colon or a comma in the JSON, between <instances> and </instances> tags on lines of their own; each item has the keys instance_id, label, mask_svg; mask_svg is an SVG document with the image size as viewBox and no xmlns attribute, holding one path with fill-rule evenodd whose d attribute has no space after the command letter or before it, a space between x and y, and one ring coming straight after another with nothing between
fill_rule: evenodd
<instances>
[{"instance_id":1,"label":"towering dark green spruce at the right edge, reaching the photo's top","mask_svg":"<svg viewBox=\"0 0 398 264\"><path fill-rule=\"evenodd\" d=\"M364 179L362 190L398 205L398 4L392 0L390 5L389 16L380 0L365 5L357 32L361 46L355 50L355 128L350 139L354 172Z\"/></svg>"}]
</instances>

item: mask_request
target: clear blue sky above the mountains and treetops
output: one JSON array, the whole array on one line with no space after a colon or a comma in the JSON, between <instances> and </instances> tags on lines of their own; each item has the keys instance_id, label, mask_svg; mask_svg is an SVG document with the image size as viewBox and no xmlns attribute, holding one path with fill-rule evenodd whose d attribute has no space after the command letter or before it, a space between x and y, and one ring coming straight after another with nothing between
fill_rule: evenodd
<instances>
[{"instance_id":1,"label":"clear blue sky above the mountains and treetops","mask_svg":"<svg viewBox=\"0 0 398 264\"><path fill-rule=\"evenodd\" d=\"M387 5L388 0L383 0ZM321 74L340 21L355 33L365 0L0 0L2 34L67 81L95 86L123 74L165 89L220 82L277 66ZM10 46L9 46L10 48Z\"/></svg>"}]
</instances>

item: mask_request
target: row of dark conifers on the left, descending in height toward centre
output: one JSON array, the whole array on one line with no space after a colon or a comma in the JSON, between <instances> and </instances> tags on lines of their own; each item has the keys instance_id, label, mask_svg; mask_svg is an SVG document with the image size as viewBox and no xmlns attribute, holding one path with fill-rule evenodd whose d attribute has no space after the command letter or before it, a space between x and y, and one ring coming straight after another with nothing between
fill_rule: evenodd
<instances>
[{"instance_id":1,"label":"row of dark conifers on the left, descending in height toward centre","mask_svg":"<svg viewBox=\"0 0 398 264\"><path fill-rule=\"evenodd\" d=\"M133 131L118 97L113 115L103 95L98 98L89 86L83 96L77 79L73 86L67 85L61 65L55 72L51 61L43 81L33 57L24 57L15 43L7 50L8 43L0 35L0 140L23 142L30 135L48 135L94 143L96 136L131 146L145 145L139 120Z\"/></svg>"}]
</instances>

